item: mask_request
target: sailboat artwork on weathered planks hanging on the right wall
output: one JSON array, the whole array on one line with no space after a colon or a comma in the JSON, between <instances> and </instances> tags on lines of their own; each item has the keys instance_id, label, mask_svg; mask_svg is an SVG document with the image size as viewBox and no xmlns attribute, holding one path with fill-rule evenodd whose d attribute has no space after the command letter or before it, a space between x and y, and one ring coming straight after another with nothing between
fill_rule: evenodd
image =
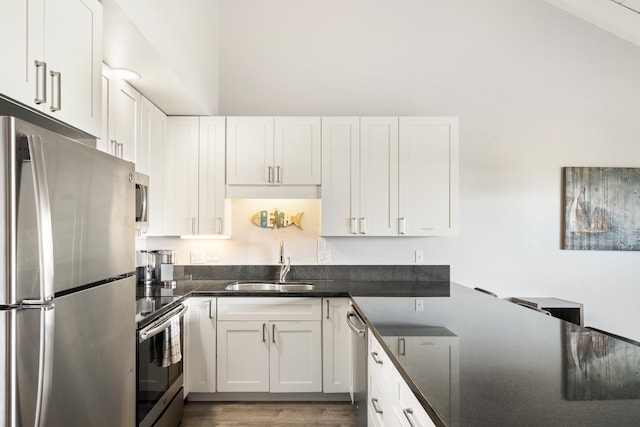
<instances>
[{"instance_id":1,"label":"sailboat artwork on weathered planks hanging on the right wall","mask_svg":"<svg viewBox=\"0 0 640 427\"><path fill-rule=\"evenodd\" d=\"M563 249L640 251L640 168L563 168Z\"/></svg>"}]
</instances>

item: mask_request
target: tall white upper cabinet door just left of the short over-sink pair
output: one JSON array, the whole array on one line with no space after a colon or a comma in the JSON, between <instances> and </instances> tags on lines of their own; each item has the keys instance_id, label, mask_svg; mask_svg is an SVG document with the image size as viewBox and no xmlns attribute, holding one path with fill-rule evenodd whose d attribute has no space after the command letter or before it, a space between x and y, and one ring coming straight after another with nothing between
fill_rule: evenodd
<instances>
[{"instance_id":1,"label":"tall white upper cabinet door just left of the short over-sink pair","mask_svg":"<svg viewBox=\"0 0 640 427\"><path fill-rule=\"evenodd\" d=\"M225 199L225 119L200 117L199 234L231 234Z\"/></svg>"}]
</instances>

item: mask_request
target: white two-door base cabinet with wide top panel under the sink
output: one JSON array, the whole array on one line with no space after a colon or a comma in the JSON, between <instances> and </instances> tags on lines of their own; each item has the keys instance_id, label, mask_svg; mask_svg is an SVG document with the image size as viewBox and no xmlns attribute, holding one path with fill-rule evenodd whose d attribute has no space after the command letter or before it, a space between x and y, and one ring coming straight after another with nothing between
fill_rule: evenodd
<instances>
[{"instance_id":1,"label":"white two-door base cabinet with wide top panel under the sink","mask_svg":"<svg viewBox=\"0 0 640 427\"><path fill-rule=\"evenodd\" d=\"M218 299L219 392L321 392L319 298Z\"/></svg>"}]
</instances>

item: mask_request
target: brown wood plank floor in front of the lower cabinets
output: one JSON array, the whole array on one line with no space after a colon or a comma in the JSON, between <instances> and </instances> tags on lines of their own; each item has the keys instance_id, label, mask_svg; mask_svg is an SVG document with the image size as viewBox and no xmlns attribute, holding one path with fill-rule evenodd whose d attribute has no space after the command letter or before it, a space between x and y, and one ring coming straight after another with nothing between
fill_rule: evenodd
<instances>
[{"instance_id":1,"label":"brown wood plank floor in front of the lower cabinets","mask_svg":"<svg viewBox=\"0 0 640 427\"><path fill-rule=\"evenodd\" d=\"M348 402L189 402L181 427L356 427Z\"/></svg>"}]
</instances>

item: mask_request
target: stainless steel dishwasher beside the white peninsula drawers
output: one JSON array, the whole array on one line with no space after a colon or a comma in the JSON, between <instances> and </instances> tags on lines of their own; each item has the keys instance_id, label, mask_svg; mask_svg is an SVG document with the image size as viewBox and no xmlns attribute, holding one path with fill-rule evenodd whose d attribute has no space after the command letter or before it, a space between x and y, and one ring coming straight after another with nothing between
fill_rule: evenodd
<instances>
[{"instance_id":1,"label":"stainless steel dishwasher beside the white peninsula drawers","mask_svg":"<svg viewBox=\"0 0 640 427\"><path fill-rule=\"evenodd\" d=\"M351 400L358 408L358 426L367 425L367 324L353 304L347 312L347 324L351 337Z\"/></svg>"}]
</instances>

